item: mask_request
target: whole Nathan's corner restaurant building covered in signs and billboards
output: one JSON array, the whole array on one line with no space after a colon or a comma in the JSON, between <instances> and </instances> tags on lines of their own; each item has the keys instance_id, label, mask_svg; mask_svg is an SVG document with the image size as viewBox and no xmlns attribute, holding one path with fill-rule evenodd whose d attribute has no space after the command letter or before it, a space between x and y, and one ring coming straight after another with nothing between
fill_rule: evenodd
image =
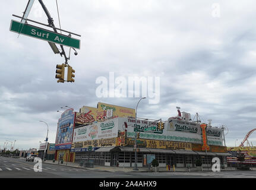
<instances>
[{"instance_id":1,"label":"whole Nathan's corner restaurant building covered in signs and billboards","mask_svg":"<svg viewBox=\"0 0 256 190\"><path fill-rule=\"evenodd\" d=\"M141 118L135 126L134 109L105 103L98 103L97 108L84 106L79 113L67 110L62 115L67 118L58 125L56 160L93 160L99 166L133 167L134 137L138 133L138 167L147 166L154 158L160 167L194 167L198 159L207 167L213 157L227 166L230 154L223 145L223 130L193 122L189 113L178 110L178 116L162 121L164 126L160 121Z\"/></svg>"}]
</instances>

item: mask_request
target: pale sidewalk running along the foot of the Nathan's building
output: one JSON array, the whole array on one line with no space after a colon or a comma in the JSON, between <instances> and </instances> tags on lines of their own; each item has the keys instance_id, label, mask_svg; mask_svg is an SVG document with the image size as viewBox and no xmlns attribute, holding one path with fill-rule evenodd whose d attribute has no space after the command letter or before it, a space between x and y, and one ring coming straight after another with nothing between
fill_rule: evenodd
<instances>
[{"instance_id":1,"label":"pale sidewalk running along the foot of the Nathan's building","mask_svg":"<svg viewBox=\"0 0 256 190\"><path fill-rule=\"evenodd\" d=\"M80 166L79 163L72 163L72 162L64 162L61 164L58 161L55 161L55 163L52 162L52 160L46 160L43 163L53 164L53 165L59 165L59 166L68 166L68 167L77 167L77 168L83 168L86 170L91 171L103 171L103 172L148 172L148 167L138 167L138 171L133 170L133 167L113 167L113 166L94 166L94 167L83 167ZM235 171L236 169L234 167L227 167L226 169L221 169L221 171ZM154 168L151 169L151 172L154 172ZM204 171L211 171L211 167L203 167ZM237 170L236 170L237 171ZM166 167L159 167L159 172L174 172L173 167L170 168L170 170L166 170ZM189 172L188 168L186 167L175 167L175 172ZM190 172L198 172L197 168L192 167L190 169Z\"/></svg>"}]
</instances>

